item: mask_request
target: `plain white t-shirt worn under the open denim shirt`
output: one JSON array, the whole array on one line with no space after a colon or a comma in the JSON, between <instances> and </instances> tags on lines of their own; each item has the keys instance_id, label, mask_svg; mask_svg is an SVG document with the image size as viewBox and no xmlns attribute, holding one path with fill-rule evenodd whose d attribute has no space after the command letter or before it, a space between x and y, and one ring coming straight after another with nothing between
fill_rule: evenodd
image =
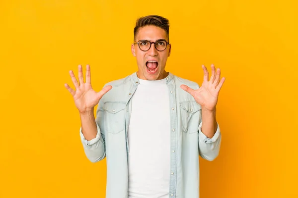
<instances>
[{"instance_id":1,"label":"plain white t-shirt worn under the open denim shirt","mask_svg":"<svg viewBox=\"0 0 298 198\"><path fill-rule=\"evenodd\" d=\"M128 197L168 198L170 106L166 79L139 82L128 128Z\"/></svg>"}]
</instances>

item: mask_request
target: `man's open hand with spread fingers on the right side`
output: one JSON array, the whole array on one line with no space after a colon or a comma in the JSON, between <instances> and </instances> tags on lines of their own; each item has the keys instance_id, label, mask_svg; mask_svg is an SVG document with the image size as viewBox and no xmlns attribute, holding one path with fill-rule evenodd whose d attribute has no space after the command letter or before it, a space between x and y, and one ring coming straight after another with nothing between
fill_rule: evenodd
<instances>
[{"instance_id":1,"label":"man's open hand with spread fingers on the right side","mask_svg":"<svg viewBox=\"0 0 298 198\"><path fill-rule=\"evenodd\" d=\"M224 84L224 78L220 81L221 71L215 71L212 65L212 76L209 80L209 73L207 68L203 65L204 81L198 90L193 90L186 85L181 85L181 88L191 94L197 103L206 110L214 110L218 102L219 92Z\"/></svg>"}]
</instances>

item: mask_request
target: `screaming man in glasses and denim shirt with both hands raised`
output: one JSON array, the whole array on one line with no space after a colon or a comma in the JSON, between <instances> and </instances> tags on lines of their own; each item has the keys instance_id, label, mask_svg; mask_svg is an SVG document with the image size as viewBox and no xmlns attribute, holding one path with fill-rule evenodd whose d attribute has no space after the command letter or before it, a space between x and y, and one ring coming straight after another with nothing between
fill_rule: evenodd
<instances>
[{"instance_id":1,"label":"screaming man in glasses and denim shirt with both hands raised","mask_svg":"<svg viewBox=\"0 0 298 198\"><path fill-rule=\"evenodd\" d=\"M87 158L107 160L107 198L198 198L199 155L219 154L221 133L216 104L224 78L212 65L209 80L197 83L165 71L169 44L167 19L141 17L131 50L138 71L92 90L90 66L84 83L70 71L81 119L80 137ZM94 106L98 104L96 118Z\"/></svg>"}]
</instances>

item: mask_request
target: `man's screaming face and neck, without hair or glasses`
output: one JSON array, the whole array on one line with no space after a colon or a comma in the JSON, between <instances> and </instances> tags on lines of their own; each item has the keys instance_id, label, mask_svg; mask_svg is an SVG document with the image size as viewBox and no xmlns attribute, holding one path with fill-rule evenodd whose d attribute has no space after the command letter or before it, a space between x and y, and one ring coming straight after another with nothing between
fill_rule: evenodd
<instances>
[{"instance_id":1,"label":"man's screaming face and neck, without hair or glasses","mask_svg":"<svg viewBox=\"0 0 298 198\"><path fill-rule=\"evenodd\" d=\"M139 29L135 42L138 43L139 41L143 40L147 40L149 42L165 40L168 42L166 32L163 29L153 25L145 26ZM161 43L158 43L158 45L159 44ZM169 44L163 51L158 51L154 47L154 44L151 45L148 51L142 51L138 44L132 44L132 53L137 58L139 69L137 72L138 77L143 80L160 80L165 78L167 74L164 68L167 57L170 56L170 52L171 44Z\"/></svg>"}]
</instances>

